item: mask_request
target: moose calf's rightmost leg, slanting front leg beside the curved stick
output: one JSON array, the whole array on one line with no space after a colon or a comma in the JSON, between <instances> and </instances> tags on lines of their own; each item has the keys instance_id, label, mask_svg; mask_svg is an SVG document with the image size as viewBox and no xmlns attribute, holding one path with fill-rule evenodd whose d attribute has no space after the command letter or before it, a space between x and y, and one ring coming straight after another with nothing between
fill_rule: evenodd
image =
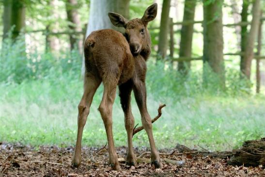
<instances>
[{"instance_id":1,"label":"moose calf's rightmost leg, slanting front leg beside the curved stick","mask_svg":"<svg viewBox=\"0 0 265 177\"><path fill-rule=\"evenodd\" d=\"M145 83L141 80L134 80L133 86L134 96L140 110L142 126L145 129L149 144L151 148L151 165L155 165L156 168L162 167L162 162L159 157L159 153L156 149L155 140L152 132L152 120L146 107L146 87Z\"/></svg>"}]
</instances>

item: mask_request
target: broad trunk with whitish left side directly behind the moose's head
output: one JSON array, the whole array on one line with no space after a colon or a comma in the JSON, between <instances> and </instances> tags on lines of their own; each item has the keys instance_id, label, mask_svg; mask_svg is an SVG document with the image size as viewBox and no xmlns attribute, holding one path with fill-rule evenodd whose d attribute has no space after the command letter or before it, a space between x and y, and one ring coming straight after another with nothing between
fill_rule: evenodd
<instances>
[{"instance_id":1,"label":"broad trunk with whitish left side directly behind the moose's head","mask_svg":"<svg viewBox=\"0 0 265 177\"><path fill-rule=\"evenodd\" d=\"M90 15L86 31L86 37L95 30L114 29L124 32L124 29L114 27L109 20L108 13L115 12L121 14L125 18L129 18L129 2L130 0L91 0ZM85 63L84 56L82 57L81 74L84 76Z\"/></svg>"}]
</instances>

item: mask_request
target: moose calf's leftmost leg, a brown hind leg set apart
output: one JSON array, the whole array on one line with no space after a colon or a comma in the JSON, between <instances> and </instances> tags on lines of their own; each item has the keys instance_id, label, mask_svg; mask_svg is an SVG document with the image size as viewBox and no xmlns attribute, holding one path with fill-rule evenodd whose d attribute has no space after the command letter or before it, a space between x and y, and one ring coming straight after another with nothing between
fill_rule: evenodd
<instances>
[{"instance_id":1,"label":"moose calf's leftmost leg, a brown hind leg set apart","mask_svg":"<svg viewBox=\"0 0 265 177\"><path fill-rule=\"evenodd\" d=\"M83 128L86 124L87 116L89 114L90 106L96 89L100 84L100 80L94 76L85 76L84 78L84 93L78 104L78 135L75 148L75 154L72 160L72 165L78 167L81 163L81 141Z\"/></svg>"}]
</instances>

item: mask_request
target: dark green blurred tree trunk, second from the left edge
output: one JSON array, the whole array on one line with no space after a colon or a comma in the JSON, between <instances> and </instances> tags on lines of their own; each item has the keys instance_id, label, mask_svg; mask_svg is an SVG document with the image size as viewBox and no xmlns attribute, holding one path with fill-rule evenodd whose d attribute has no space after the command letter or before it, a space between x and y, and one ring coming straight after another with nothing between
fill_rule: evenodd
<instances>
[{"instance_id":1,"label":"dark green blurred tree trunk, second from the left edge","mask_svg":"<svg viewBox=\"0 0 265 177\"><path fill-rule=\"evenodd\" d=\"M25 27L25 5L21 0L12 1L11 26L15 26L12 31L12 39L16 40L21 30Z\"/></svg>"}]
</instances>

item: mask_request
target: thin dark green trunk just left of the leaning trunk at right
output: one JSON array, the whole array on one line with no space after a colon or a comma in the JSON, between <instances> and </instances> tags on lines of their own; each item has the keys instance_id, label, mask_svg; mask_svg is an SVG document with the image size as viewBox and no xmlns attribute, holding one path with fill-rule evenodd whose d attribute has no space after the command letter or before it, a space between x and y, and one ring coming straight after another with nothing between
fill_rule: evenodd
<instances>
[{"instance_id":1,"label":"thin dark green trunk just left of the leaning trunk at right","mask_svg":"<svg viewBox=\"0 0 265 177\"><path fill-rule=\"evenodd\" d=\"M248 21L248 9L249 9L249 0L242 0L242 11L241 11L241 21ZM241 52L245 52L248 36L248 26L241 26ZM244 66L244 56L240 57L240 71L243 73ZM241 77L242 78L242 77Z\"/></svg>"}]
</instances>

